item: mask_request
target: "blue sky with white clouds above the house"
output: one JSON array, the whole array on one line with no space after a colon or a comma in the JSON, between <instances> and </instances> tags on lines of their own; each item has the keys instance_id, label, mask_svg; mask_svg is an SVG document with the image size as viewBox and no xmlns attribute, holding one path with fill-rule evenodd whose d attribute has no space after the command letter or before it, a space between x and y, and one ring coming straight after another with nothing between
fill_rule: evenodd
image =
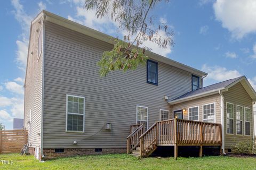
<instances>
[{"instance_id":1,"label":"blue sky with white clouds above the house","mask_svg":"<svg viewBox=\"0 0 256 170\"><path fill-rule=\"evenodd\" d=\"M109 18L97 19L81 0L1 1L0 122L12 129L13 117L23 117L30 21L45 9L112 36L122 35ZM175 45L153 52L203 70L204 85L246 75L256 89L256 2L254 0L170 0L151 12L166 22Z\"/></svg>"}]
</instances>

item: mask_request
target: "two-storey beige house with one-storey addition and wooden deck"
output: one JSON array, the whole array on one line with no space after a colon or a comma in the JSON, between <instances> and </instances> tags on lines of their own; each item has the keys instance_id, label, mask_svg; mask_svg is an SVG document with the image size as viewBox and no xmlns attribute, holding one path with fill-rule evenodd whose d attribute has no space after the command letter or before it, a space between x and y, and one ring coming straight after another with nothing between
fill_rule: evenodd
<instances>
[{"instance_id":1,"label":"two-storey beige house with one-storey addition and wooden deck","mask_svg":"<svg viewBox=\"0 0 256 170\"><path fill-rule=\"evenodd\" d=\"M245 77L203 88L207 73L146 52L147 66L100 78L97 62L112 47L112 37L47 11L31 22L24 115L31 154L146 157L162 145L177 157L179 145L199 145L202 156L206 145L226 152L233 139L252 140L256 94Z\"/></svg>"}]
</instances>

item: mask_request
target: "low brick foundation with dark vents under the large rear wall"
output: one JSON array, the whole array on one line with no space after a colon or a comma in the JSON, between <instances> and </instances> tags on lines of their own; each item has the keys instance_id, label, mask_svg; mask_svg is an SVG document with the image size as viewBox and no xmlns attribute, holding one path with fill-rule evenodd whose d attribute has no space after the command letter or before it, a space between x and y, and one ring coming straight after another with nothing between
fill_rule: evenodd
<instances>
[{"instance_id":1,"label":"low brick foundation with dark vents under the large rear wall","mask_svg":"<svg viewBox=\"0 0 256 170\"><path fill-rule=\"evenodd\" d=\"M70 157L78 155L123 154L126 148L102 148L101 152L95 152L95 148L65 148L63 153L56 153L55 149L43 149L44 160Z\"/></svg>"}]
</instances>

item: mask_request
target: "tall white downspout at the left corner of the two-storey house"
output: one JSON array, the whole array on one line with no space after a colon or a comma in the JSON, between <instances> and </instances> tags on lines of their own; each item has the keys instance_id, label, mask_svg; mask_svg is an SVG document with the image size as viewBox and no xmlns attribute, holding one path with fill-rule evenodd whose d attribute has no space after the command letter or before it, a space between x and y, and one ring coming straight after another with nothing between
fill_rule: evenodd
<instances>
[{"instance_id":1,"label":"tall white downspout at the left corner of the two-storey house","mask_svg":"<svg viewBox=\"0 0 256 170\"><path fill-rule=\"evenodd\" d=\"M45 18L46 15L43 13L43 31L42 31L42 40L43 40L43 49L42 49L42 110L41 110L41 156L44 158L43 154L43 127L44 127L44 40L45 40L45 29L44 29L44 24L45 24Z\"/></svg>"}]
</instances>

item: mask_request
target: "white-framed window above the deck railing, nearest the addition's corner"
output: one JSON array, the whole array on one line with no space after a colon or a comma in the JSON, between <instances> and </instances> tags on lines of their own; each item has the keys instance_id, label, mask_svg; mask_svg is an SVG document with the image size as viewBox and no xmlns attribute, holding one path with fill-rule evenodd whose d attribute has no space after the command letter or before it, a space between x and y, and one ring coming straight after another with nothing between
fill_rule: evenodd
<instances>
[{"instance_id":1,"label":"white-framed window above the deck railing, nearest the addition's corner","mask_svg":"<svg viewBox=\"0 0 256 170\"><path fill-rule=\"evenodd\" d=\"M215 123L215 103L203 105L203 122Z\"/></svg>"}]
</instances>

